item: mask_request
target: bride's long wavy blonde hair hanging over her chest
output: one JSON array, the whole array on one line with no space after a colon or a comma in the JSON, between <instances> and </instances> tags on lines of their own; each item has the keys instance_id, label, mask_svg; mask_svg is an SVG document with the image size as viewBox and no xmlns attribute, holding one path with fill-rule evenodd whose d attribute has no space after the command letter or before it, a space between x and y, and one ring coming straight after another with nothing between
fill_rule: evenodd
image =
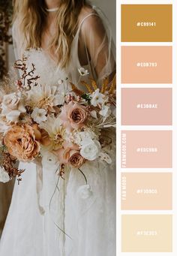
<instances>
[{"instance_id":1,"label":"bride's long wavy blonde hair hanging over her chest","mask_svg":"<svg viewBox=\"0 0 177 256\"><path fill-rule=\"evenodd\" d=\"M56 13L55 36L51 38L49 51L55 50L58 65L65 67L71 55L71 43L77 31L78 16L86 0L61 0ZM13 23L17 24L23 48L41 47L41 37L46 26L46 4L44 0L13 0Z\"/></svg>"}]
</instances>

